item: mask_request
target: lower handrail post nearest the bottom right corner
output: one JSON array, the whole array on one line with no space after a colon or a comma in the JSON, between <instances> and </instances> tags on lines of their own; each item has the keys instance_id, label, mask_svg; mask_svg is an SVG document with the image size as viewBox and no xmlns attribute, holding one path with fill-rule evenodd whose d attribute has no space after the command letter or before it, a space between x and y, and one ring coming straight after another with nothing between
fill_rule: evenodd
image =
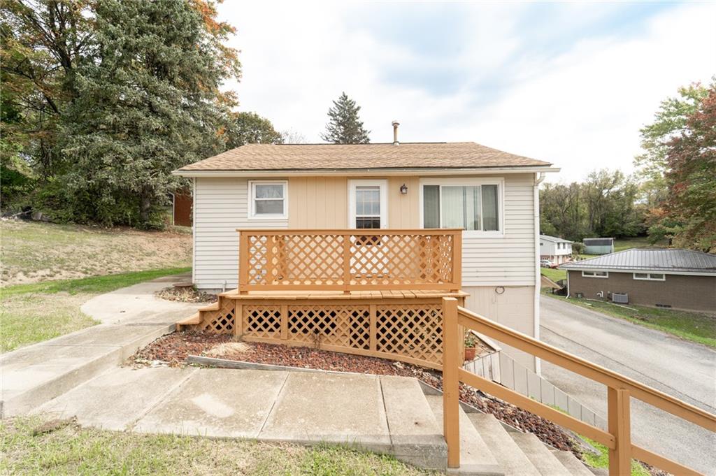
<instances>
[{"instance_id":1,"label":"lower handrail post nearest the bottom right corner","mask_svg":"<svg viewBox=\"0 0 716 476\"><path fill-rule=\"evenodd\" d=\"M632 474L632 435L629 390L607 387L607 420L616 446L609 450L609 476Z\"/></svg>"}]
</instances>

